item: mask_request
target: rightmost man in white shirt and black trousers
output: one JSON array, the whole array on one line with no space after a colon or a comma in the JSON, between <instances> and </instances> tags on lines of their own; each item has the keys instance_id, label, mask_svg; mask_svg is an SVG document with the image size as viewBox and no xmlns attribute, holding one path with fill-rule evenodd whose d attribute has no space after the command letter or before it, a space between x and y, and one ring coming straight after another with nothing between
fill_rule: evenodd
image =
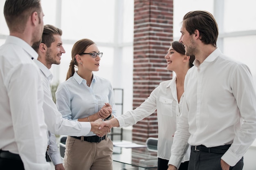
<instances>
[{"instance_id":1,"label":"rightmost man in white shirt and black trousers","mask_svg":"<svg viewBox=\"0 0 256 170\"><path fill-rule=\"evenodd\" d=\"M216 47L218 26L207 11L183 18L180 42L195 65L184 82L184 101L168 170L179 168L187 142L189 170L242 170L256 137L256 94L249 68Z\"/></svg>"}]
</instances>

